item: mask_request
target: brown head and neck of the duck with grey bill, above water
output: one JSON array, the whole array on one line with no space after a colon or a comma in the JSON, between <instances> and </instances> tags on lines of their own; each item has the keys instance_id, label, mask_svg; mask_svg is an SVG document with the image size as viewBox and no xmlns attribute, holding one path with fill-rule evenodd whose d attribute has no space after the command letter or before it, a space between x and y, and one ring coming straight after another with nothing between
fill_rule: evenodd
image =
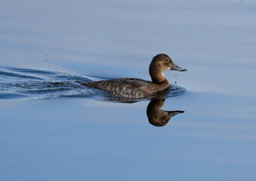
<instances>
[{"instance_id":1,"label":"brown head and neck of the duck with grey bill, above water","mask_svg":"<svg viewBox=\"0 0 256 181\"><path fill-rule=\"evenodd\" d=\"M187 71L187 69L183 69L173 63L167 54L158 54L153 57L153 60L150 63L150 76L154 83L165 81L164 72L168 70L177 70L180 72Z\"/></svg>"}]
</instances>

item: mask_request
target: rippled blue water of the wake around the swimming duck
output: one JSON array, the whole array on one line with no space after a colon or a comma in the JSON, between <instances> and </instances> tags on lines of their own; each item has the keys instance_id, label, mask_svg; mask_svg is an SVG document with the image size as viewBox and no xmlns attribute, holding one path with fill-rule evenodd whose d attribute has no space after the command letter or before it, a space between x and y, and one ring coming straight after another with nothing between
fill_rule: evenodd
<instances>
[{"instance_id":1,"label":"rippled blue water of the wake around the swimming duck","mask_svg":"<svg viewBox=\"0 0 256 181\"><path fill-rule=\"evenodd\" d=\"M66 72L54 72L39 69L0 68L0 99L31 100L51 97L94 97L97 100L109 100L134 103L139 100L128 100L116 97L103 90L82 86L92 81L90 77L72 75ZM106 79L106 78L98 78ZM174 97L183 94L184 87L171 84L168 90L147 97ZM145 99L143 99L145 100Z\"/></svg>"}]
</instances>

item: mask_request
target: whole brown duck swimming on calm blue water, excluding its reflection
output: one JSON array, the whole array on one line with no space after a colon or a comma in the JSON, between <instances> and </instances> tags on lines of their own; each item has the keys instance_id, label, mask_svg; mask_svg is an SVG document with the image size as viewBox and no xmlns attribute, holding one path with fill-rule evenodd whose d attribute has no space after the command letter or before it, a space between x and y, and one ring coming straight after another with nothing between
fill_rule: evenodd
<instances>
[{"instance_id":1,"label":"whole brown duck swimming on calm blue water, excluding its reflection","mask_svg":"<svg viewBox=\"0 0 256 181\"><path fill-rule=\"evenodd\" d=\"M142 99L150 97L170 86L164 75L164 72L168 70L187 71L187 69L177 66L167 54L157 54L153 57L149 67L152 81L145 81L140 78L114 78L104 81L91 81L82 85L105 90L117 97Z\"/></svg>"}]
</instances>

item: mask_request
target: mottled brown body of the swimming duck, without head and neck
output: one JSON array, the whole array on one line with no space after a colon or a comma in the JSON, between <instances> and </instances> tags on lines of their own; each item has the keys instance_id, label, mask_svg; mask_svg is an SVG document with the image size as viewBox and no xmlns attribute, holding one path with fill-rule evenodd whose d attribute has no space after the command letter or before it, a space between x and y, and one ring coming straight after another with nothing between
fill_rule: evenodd
<instances>
[{"instance_id":1,"label":"mottled brown body of the swimming duck, without head and neck","mask_svg":"<svg viewBox=\"0 0 256 181\"><path fill-rule=\"evenodd\" d=\"M165 89L168 87L168 81L167 84L154 84L140 78L116 78L106 81L93 81L82 85L106 90L121 97L141 98Z\"/></svg>"}]
</instances>

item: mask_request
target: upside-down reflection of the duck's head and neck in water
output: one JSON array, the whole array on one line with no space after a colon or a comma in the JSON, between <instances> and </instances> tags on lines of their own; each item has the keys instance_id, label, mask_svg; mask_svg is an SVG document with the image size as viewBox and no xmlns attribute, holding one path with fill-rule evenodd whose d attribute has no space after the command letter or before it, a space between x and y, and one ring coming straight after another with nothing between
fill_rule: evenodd
<instances>
[{"instance_id":1,"label":"upside-down reflection of the duck's head and neck in water","mask_svg":"<svg viewBox=\"0 0 256 181\"><path fill-rule=\"evenodd\" d=\"M153 124L156 127L162 127L168 124L168 121L177 114L184 113L184 111L164 111L162 106L164 105L164 99L154 99L151 100L147 106L147 118L150 121L150 124Z\"/></svg>"}]
</instances>

